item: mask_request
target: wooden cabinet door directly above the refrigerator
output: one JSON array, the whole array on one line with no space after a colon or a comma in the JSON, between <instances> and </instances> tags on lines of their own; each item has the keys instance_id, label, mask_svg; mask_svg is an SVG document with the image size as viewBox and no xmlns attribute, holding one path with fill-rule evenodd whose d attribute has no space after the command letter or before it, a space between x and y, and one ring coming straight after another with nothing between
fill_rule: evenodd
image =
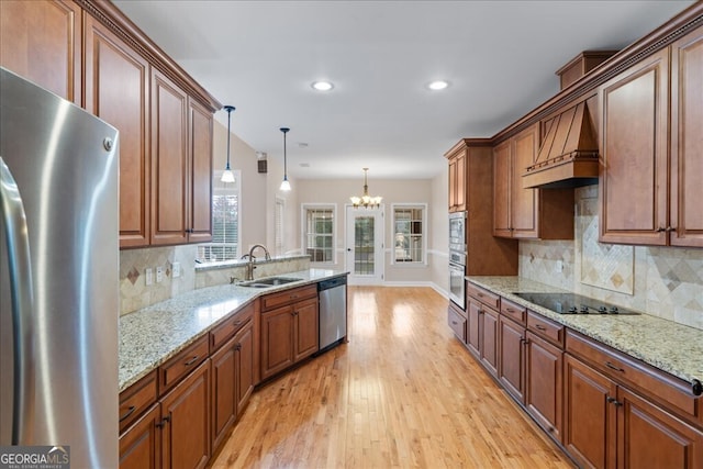
<instances>
[{"instance_id":1,"label":"wooden cabinet door directly above the refrigerator","mask_svg":"<svg viewBox=\"0 0 703 469\"><path fill-rule=\"evenodd\" d=\"M81 19L72 1L0 1L0 65L81 105Z\"/></svg>"}]
</instances>

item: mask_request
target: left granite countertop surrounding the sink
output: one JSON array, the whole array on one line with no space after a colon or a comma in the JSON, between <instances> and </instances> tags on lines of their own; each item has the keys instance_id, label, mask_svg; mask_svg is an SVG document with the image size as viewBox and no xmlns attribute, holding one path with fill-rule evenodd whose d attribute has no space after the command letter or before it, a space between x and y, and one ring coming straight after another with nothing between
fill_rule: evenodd
<instances>
[{"instance_id":1,"label":"left granite countertop surrounding the sink","mask_svg":"<svg viewBox=\"0 0 703 469\"><path fill-rule=\"evenodd\" d=\"M209 287L125 314L120 317L120 392L208 334L231 312L255 298L346 273L343 270L309 269L276 276L301 279L278 287Z\"/></svg>"}]
</instances>

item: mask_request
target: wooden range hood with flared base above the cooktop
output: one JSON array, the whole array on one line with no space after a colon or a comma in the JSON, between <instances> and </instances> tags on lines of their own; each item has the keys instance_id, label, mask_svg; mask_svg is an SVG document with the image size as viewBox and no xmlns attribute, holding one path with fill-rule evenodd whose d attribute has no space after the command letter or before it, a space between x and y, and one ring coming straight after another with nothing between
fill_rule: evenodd
<instances>
[{"instance_id":1,"label":"wooden range hood with flared base above the cooktop","mask_svg":"<svg viewBox=\"0 0 703 469\"><path fill-rule=\"evenodd\" d=\"M598 141L585 102L546 123L535 164L523 174L524 188L559 189L598 183Z\"/></svg>"}]
</instances>

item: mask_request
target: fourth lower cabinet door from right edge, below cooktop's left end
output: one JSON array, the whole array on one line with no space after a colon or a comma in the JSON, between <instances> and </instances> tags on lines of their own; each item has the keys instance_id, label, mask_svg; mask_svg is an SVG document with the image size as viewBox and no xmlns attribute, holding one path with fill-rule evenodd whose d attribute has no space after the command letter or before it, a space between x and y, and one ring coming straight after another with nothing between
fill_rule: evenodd
<instances>
[{"instance_id":1,"label":"fourth lower cabinet door from right edge, below cooktop's left end","mask_svg":"<svg viewBox=\"0 0 703 469\"><path fill-rule=\"evenodd\" d=\"M501 316L499 336L499 379L513 398L518 402L524 402L525 327Z\"/></svg>"}]
</instances>

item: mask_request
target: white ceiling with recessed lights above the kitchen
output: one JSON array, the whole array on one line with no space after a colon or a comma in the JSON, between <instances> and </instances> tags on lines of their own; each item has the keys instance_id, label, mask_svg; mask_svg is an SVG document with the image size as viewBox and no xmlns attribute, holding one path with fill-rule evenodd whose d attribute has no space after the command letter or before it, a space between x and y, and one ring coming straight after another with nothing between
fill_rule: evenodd
<instances>
[{"instance_id":1,"label":"white ceiling with recessed lights above the kitchen","mask_svg":"<svg viewBox=\"0 0 703 469\"><path fill-rule=\"evenodd\" d=\"M292 177L428 178L459 138L493 136L554 96L554 72L581 51L622 48L693 2L114 3L236 107L232 130L256 150L282 161L290 127ZM439 78L451 86L425 88ZM317 79L334 90L314 91Z\"/></svg>"}]
</instances>

